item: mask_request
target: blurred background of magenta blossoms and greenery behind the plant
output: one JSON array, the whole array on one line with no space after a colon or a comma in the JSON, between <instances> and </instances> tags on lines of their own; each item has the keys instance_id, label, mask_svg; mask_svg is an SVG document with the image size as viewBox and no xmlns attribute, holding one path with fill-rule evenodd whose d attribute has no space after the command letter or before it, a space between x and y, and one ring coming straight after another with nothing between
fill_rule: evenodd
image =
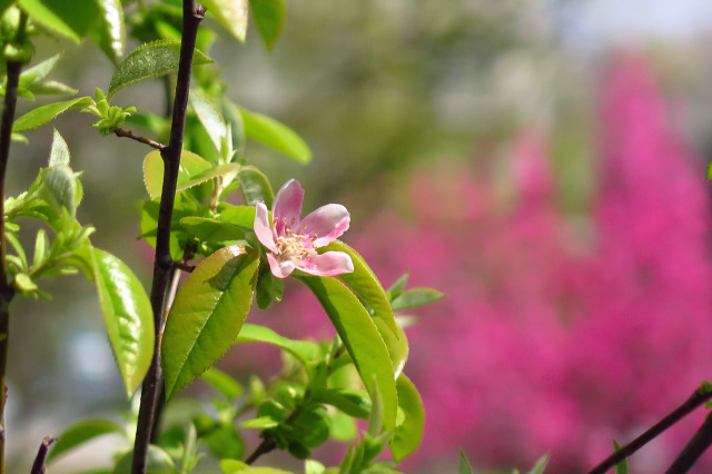
<instances>
[{"instance_id":1,"label":"blurred background of magenta blossoms and greenery behind the plant","mask_svg":"<svg viewBox=\"0 0 712 474\"><path fill-rule=\"evenodd\" d=\"M305 167L249 144L273 186L295 177L305 208L344 204L345 240L385 285L409 271L412 285L448 295L414 310L407 329L406 373L427 424L406 472L454 472L458 447L482 472L527 468L546 453L551 472L583 472L613 438L630 441L712 378L712 4L287 3L271 53L251 30L212 56L229 97L313 149ZM112 67L93 45L47 40L38 50L65 48L55 78L80 95L106 89ZM161 83L116 102L160 113ZM80 220L148 287L150 254L136 239L147 150L99 137L90 122L55 122L86 170ZM11 195L49 154L49 128L28 137L12 150ZM126 408L92 286L76 277L44 289L56 302L12 308L18 473L42 436ZM287 289L280 308L250 318L291 336L329 334L309 296ZM224 367L246 373L261 357L237 348ZM664 470L702 417L635 455L633 472ZM56 472L107 464L112 442ZM712 472L712 461L696 472Z\"/></svg>"}]
</instances>

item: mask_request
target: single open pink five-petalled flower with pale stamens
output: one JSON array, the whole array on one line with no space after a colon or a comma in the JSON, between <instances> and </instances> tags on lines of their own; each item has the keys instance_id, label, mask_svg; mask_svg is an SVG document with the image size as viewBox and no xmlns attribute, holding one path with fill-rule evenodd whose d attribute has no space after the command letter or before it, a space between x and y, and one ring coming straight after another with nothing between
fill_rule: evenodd
<instances>
[{"instance_id":1,"label":"single open pink five-petalled flower with pale stamens","mask_svg":"<svg viewBox=\"0 0 712 474\"><path fill-rule=\"evenodd\" d=\"M350 215L339 204L327 204L301 220L304 189L290 179L277 191L269 223L265 203L257 203L255 234L269 249L267 261L277 278L288 277L295 268L317 276L334 276L354 271L352 257L343 251L326 251L316 248L337 239L348 229Z\"/></svg>"}]
</instances>

